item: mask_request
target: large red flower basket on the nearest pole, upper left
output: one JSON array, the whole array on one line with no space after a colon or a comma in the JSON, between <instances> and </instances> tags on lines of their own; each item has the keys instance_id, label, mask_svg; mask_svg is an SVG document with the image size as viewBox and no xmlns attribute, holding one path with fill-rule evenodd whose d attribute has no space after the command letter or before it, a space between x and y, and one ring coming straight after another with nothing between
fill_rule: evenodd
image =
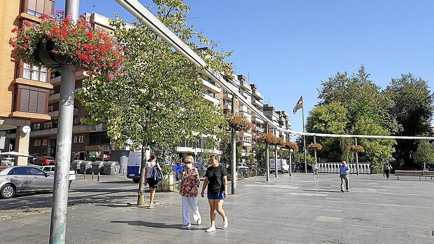
<instances>
[{"instance_id":1,"label":"large red flower basket on the nearest pole, upper left","mask_svg":"<svg viewBox=\"0 0 434 244\"><path fill-rule=\"evenodd\" d=\"M9 40L13 62L24 60L54 69L71 65L76 71L105 75L109 80L122 71L124 50L108 33L82 17L74 22L61 10L39 18L40 23L26 21L22 29L12 30L16 35Z\"/></svg>"}]
</instances>

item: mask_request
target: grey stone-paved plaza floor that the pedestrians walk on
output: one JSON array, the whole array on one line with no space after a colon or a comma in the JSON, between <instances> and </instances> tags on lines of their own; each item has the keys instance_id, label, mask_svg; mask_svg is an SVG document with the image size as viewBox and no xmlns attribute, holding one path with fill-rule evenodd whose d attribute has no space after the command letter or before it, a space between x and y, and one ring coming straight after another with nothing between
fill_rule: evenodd
<instances>
[{"instance_id":1,"label":"grey stone-paved plaza floor that the pedestrians walk on","mask_svg":"<svg viewBox=\"0 0 434 244\"><path fill-rule=\"evenodd\" d=\"M434 243L434 180L351 175L350 192L341 193L338 174L320 177L314 181L312 174L294 173L271 175L270 182L265 177L237 181L238 194L230 195L223 206L229 227L224 230L217 215L213 233L205 233L206 199L198 201L202 225L183 230L178 193L158 192L156 208L147 209L134 206L137 185L128 186L129 180L112 182L118 191L97 183L86 191L111 197L89 198L68 209L67 243ZM48 243L50 212L1 220L0 227L1 244Z\"/></svg>"}]
</instances>

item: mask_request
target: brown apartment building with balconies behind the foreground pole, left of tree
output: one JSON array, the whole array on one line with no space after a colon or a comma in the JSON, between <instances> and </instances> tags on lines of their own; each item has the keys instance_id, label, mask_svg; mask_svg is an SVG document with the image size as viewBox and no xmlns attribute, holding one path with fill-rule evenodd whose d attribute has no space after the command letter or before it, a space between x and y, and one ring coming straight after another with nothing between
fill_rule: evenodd
<instances>
[{"instance_id":1,"label":"brown apartment building with balconies behind the foreground pole, left of tree","mask_svg":"<svg viewBox=\"0 0 434 244\"><path fill-rule=\"evenodd\" d=\"M102 28L106 31L112 30L109 26L109 18L105 16L98 13L85 13L82 16L89 22L94 23L93 25L96 28ZM59 72L53 72L49 77L52 89L48 95L47 111L51 119L32 122L29 152L31 154L47 155L56 158L61 76ZM82 89L83 80L88 77L85 71L75 72L75 92ZM107 137L107 125L84 125L82 121L87 116L88 114L85 112L84 106L75 99L72 122L71 160L92 160L102 154L109 154L109 151L113 149L110 139Z\"/></svg>"}]
</instances>

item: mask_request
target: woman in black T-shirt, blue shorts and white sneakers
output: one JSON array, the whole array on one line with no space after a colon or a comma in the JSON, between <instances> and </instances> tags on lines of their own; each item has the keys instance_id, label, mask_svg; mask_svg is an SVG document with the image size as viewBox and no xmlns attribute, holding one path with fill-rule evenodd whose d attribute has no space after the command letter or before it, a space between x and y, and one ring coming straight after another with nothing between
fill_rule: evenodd
<instances>
[{"instance_id":1,"label":"woman in black T-shirt, blue shorts and white sneakers","mask_svg":"<svg viewBox=\"0 0 434 244\"><path fill-rule=\"evenodd\" d=\"M223 218L223 228L227 228L227 217L222 208L224 198L227 196L227 172L226 169L218 163L218 156L210 156L211 166L205 173L205 180L202 187L201 197L204 197L205 187L207 187L207 198L210 204L211 227L206 232L216 231L216 211Z\"/></svg>"}]
</instances>

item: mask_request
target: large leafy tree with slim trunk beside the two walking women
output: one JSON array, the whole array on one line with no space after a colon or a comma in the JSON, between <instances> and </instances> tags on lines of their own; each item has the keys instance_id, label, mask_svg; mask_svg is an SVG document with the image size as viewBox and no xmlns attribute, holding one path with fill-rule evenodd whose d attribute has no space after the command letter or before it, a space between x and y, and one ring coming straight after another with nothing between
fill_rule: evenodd
<instances>
[{"instance_id":1,"label":"large leafy tree with slim trunk beside the two walking women","mask_svg":"<svg viewBox=\"0 0 434 244\"><path fill-rule=\"evenodd\" d=\"M158 19L188 46L196 49L193 27L186 26L189 7L182 0L154 0ZM117 16L116 16L117 17ZM111 23L115 37L129 50L123 73L111 82L96 76L85 80L78 94L92 115L86 122L107 123L108 136L117 145L145 151L176 146L184 139L194 139L203 132L220 135L224 120L217 107L204 101L201 76L196 67L151 32L144 24L132 22L133 28L119 17ZM215 52L215 45L196 37L210 48L197 50L216 71L225 68L226 53ZM144 205L145 167L141 170L138 205Z\"/></svg>"}]
</instances>

